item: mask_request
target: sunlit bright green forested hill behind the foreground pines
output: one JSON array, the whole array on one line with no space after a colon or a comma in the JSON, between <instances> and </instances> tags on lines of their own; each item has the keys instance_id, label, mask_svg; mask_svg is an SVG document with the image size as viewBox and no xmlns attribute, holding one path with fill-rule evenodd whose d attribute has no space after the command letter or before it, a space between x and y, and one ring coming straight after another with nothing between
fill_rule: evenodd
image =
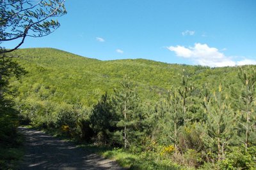
<instances>
[{"instance_id":1,"label":"sunlit bright green forested hill behind the foreground pines","mask_svg":"<svg viewBox=\"0 0 256 170\"><path fill-rule=\"evenodd\" d=\"M15 52L19 64L28 74L22 83L13 81L17 98L56 103L81 103L92 106L97 100L119 87L127 74L138 85L140 97L154 101L172 86L180 85L183 74L191 83L217 88L237 83L237 67L210 68L166 64L145 59L102 61L74 55L53 48L28 48ZM184 73L183 73L184 71Z\"/></svg>"}]
</instances>

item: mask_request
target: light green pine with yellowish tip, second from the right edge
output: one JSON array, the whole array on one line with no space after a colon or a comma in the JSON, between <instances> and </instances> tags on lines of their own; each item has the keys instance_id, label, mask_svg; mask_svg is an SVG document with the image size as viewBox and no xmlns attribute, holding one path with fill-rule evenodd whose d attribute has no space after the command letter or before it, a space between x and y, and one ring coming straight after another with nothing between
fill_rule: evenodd
<instances>
[{"instance_id":1,"label":"light green pine with yellowish tip, second from the right edge","mask_svg":"<svg viewBox=\"0 0 256 170\"><path fill-rule=\"evenodd\" d=\"M228 96L223 96L221 85L218 92L213 92L209 99L205 96L205 145L213 153L217 153L218 160L225 159L225 150L235 133L236 115L230 104Z\"/></svg>"}]
</instances>

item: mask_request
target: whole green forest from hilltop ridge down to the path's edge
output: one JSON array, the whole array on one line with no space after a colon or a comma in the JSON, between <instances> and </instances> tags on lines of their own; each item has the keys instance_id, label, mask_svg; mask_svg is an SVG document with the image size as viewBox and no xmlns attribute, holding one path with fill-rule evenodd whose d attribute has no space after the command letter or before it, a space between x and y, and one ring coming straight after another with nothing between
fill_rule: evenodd
<instances>
[{"instance_id":1,"label":"whole green forest from hilltop ridge down to the path's edge","mask_svg":"<svg viewBox=\"0 0 256 170\"><path fill-rule=\"evenodd\" d=\"M10 55L26 73L6 94L22 124L167 161L162 169L256 167L255 66L102 61L52 48Z\"/></svg>"}]
</instances>

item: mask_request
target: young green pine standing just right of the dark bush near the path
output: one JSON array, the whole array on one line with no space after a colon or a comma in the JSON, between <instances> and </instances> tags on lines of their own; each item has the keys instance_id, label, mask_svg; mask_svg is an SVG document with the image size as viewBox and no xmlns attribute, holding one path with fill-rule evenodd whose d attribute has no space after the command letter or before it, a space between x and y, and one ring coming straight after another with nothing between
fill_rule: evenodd
<instances>
[{"instance_id":1,"label":"young green pine standing just right of the dark bush near the path","mask_svg":"<svg viewBox=\"0 0 256 170\"><path fill-rule=\"evenodd\" d=\"M122 135L124 148L136 141L140 135L141 121L143 119L139 109L139 98L134 83L128 76L125 76L121 81L121 89L115 89L113 102L116 107L116 114L119 120L116 124L120 131L116 132L117 136Z\"/></svg>"}]
</instances>

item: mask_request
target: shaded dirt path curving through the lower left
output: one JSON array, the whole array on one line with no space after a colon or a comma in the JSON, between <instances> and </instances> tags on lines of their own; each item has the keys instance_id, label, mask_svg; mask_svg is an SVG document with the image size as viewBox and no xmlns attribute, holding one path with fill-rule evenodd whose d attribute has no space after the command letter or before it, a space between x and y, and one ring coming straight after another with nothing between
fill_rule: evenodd
<instances>
[{"instance_id":1,"label":"shaded dirt path curving through the lower left","mask_svg":"<svg viewBox=\"0 0 256 170\"><path fill-rule=\"evenodd\" d=\"M19 127L26 136L26 155L19 169L122 169L115 161L77 148L41 131Z\"/></svg>"}]
</instances>

